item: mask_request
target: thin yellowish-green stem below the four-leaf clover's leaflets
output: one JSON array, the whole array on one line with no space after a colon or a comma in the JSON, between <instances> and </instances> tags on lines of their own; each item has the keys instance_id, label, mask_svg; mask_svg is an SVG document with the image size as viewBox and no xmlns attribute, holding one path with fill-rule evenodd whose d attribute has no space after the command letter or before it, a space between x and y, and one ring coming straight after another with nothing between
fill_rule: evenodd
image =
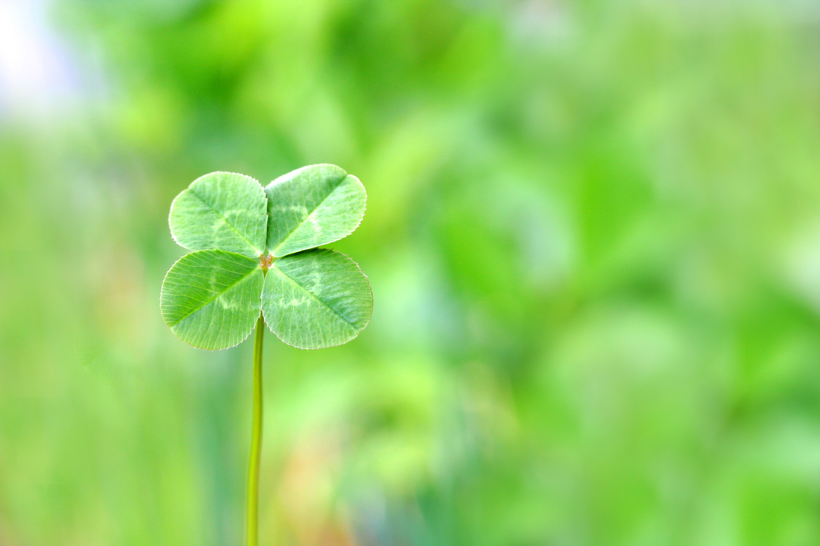
<instances>
[{"instance_id":1,"label":"thin yellowish-green stem below the four-leaf clover's leaflets","mask_svg":"<svg viewBox=\"0 0 820 546\"><path fill-rule=\"evenodd\" d=\"M262 342L265 340L265 321L262 313L257 319L256 338L253 341L253 425L251 455L248 463L248 546L259 544L259 459L262 456Z\"/></svg>"}]
</instances>

